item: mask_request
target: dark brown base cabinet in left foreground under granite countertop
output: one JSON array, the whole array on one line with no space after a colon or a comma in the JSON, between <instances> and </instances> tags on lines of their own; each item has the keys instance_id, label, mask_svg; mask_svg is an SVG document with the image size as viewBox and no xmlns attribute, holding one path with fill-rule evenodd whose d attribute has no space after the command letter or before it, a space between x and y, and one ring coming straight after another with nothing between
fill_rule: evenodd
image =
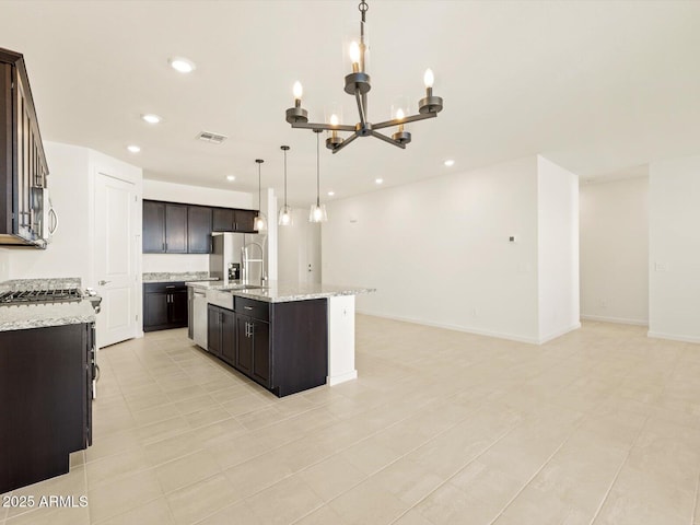
<instances>
[{"instance_id":1,"label":"dark brown base cabinet in left foreground under granite countertop","mask_svg":"<svg viewBox=\"0 0 700 525\"><path fill-rule=\"evenodd\" d=\"M93 328L0 332L0 493L68 472L92 443Z\"/></svg>"}]
</instances>

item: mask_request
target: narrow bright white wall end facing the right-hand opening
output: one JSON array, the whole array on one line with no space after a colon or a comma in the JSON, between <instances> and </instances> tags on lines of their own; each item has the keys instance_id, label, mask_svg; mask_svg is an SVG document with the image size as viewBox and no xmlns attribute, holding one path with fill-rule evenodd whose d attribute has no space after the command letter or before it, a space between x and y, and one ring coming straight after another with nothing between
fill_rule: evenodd
<instances>
[{"instance_id":1,"label":"narrow bright white wall end facing the right-hand opening","mask_svg":"<svg viewBox=\"0 0 700 525\"><path fill-rule=\"evenodd\" d=\"M579 320L579 177L537 158L539 340L581 327Z\"/></svg>"}]
</instances>

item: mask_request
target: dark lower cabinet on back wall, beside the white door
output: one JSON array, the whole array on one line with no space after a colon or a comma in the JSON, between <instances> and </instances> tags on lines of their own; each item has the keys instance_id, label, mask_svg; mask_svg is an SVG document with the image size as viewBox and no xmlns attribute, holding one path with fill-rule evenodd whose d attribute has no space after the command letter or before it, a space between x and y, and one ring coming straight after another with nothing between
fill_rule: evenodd
<instances>
[{"instance_id":1,"label":"dark lower cabinet on back wall, beside the white door","mask_svg":"<svg viewBox=\"0 0 700 525\"><path fill-rule=\"evenodd\" d=\"M143 284L143 331L187 326L187 287L184 282Z\"/></svg>"}]
</instances>

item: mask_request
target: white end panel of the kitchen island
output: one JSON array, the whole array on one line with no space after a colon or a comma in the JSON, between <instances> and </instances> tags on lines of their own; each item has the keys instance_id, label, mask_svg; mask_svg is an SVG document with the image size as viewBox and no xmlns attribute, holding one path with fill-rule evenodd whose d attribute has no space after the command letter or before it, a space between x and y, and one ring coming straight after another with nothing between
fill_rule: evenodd
<instances>
[{"instance_id":1,"label":"white end panel of the kitchen island","mask_svg":"<svg viewBox=\"0 0 700 525\"><path fill-rule=\"evenodd\" d=\"M355 380L354 295L328 299L328 385Z\"/></svg>"}]
</instances>

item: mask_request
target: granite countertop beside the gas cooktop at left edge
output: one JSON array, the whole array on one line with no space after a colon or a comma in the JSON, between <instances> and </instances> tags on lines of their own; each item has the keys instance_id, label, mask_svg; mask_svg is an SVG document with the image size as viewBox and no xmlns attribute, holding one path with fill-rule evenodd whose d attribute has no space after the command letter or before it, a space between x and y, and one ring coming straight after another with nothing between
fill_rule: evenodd
<instances>
[{"instance_id":1,"label":"granite countertop beside the gas cooktop at left edge","mask_svg":"<svg viewBox=\"0 0 700 525\"><path fill-rule=\"evenodd\" d=\"M90 301L0 306L0 331L94 323Z\"/></svg>"}]
</instances>

